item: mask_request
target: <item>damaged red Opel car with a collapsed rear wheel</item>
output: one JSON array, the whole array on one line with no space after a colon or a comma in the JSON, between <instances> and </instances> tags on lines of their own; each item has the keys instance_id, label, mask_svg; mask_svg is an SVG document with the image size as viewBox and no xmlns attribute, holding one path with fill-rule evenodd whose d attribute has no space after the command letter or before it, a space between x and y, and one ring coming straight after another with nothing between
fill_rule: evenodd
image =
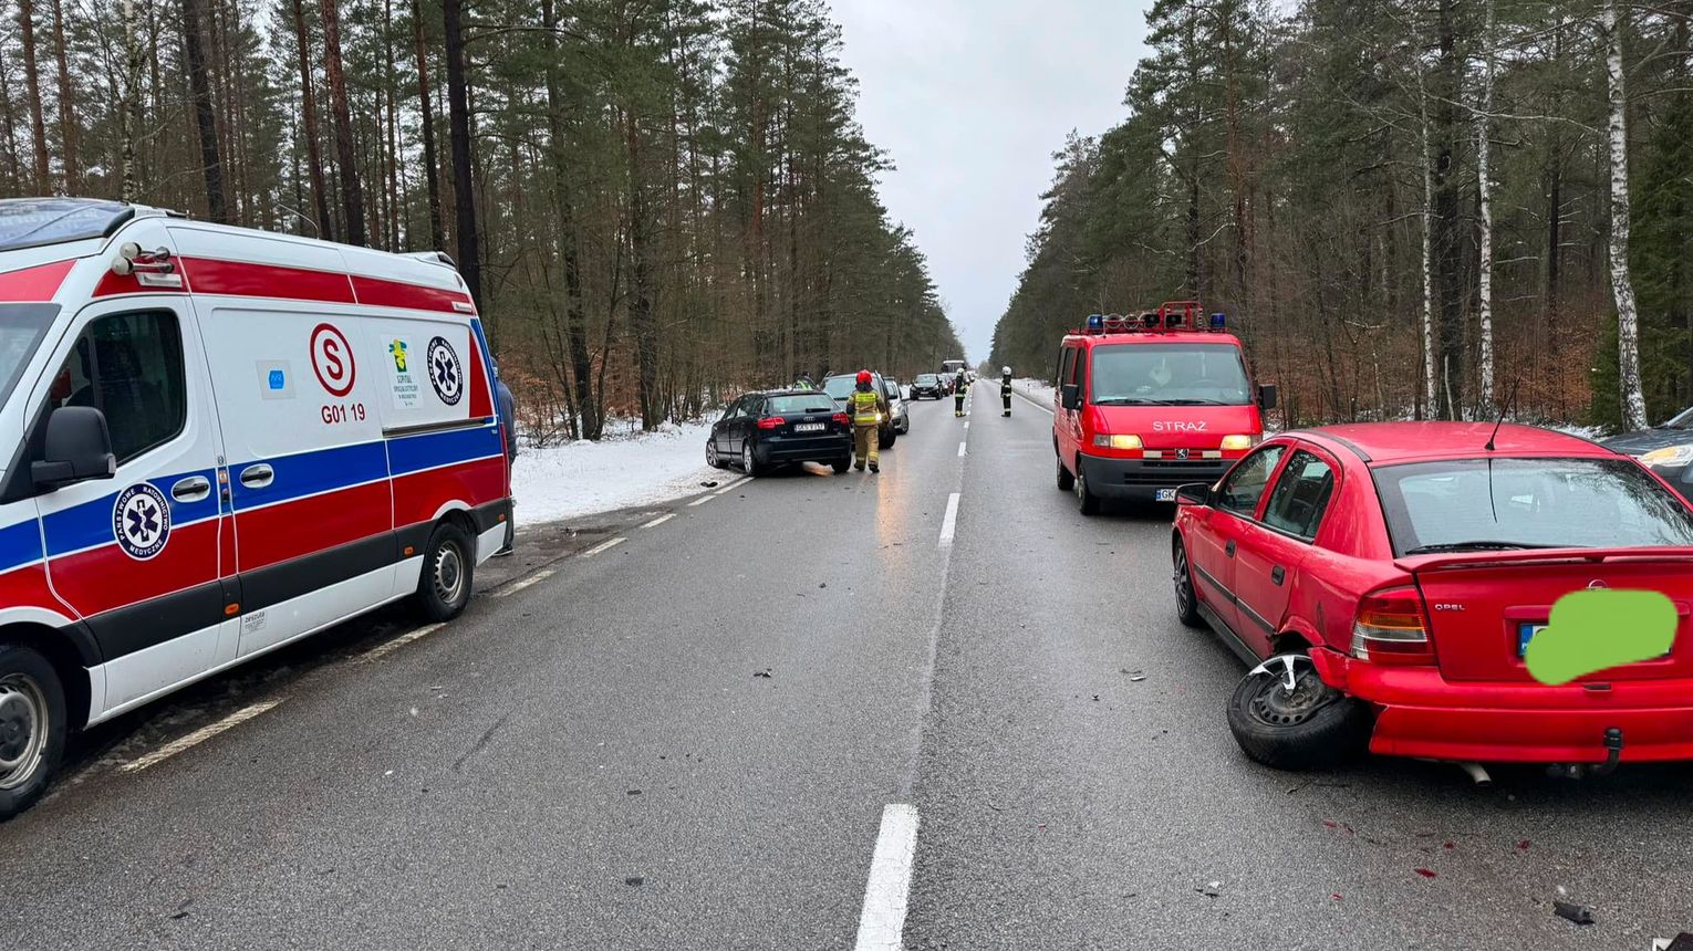
<instances>
[{"instance_id":1,"label":"damaged red Opel car with a collapsed rear wheel","mask_svg":"<svg viewBox=\"0 0 1693 951\"><path fill-rule=\"evenodd\" d=\"M1324 767L1366 739L1564 775L1693 758L1693 508L1600 445L1490 423L1285 433L1182 487L1172 550L1182 621L1256 665L1229 728L1260 763ZM1596 587L1668 594L1671 651L1537 682L1529 640Z\"/></svg>"}]
</instances>

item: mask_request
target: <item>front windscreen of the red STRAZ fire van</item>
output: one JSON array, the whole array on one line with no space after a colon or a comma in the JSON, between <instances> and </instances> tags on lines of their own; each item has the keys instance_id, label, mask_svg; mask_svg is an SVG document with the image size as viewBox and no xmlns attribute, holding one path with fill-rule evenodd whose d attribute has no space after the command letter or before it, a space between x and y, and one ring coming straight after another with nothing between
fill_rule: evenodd
<instances>
[{"instance_id":1,"label":"front windscreen of the red STRAZ fire van","mask_svg":"<svg viewBox=\"0 0 1693 951\"><path fill-rule=\"evenodd\" d=\"M1233 344L1112 344L1094 347L1089 403L1243 406L1251 386Z\"/></svg>"}]
</instances>

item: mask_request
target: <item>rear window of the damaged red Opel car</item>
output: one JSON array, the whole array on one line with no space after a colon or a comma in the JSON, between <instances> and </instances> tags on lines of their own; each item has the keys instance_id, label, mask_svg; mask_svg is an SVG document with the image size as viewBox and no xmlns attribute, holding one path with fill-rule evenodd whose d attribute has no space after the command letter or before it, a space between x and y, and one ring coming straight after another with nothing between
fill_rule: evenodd
<instances>
[{"instance_id":1,"label":"rear window of the damaged red Opel car","mask_svg":"<svg viewBox=\"0 0 1693 951\"><path fill-rule=\"evenodd\" d=\"M1375 469L1395 555L1693 545L1693 511L1627 459Z\"/></svg>"}]
</instances>

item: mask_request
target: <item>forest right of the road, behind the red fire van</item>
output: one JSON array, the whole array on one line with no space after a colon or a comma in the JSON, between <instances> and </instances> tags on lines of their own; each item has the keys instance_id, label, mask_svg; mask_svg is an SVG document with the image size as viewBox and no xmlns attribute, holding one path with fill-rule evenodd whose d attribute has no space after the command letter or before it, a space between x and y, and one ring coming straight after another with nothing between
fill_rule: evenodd
<instances>
[{"instance_id":1,"label":"forest right of the road, behind the red fire van","mask_svg":"<svg viewBox=\"0 0 1693 951\"><path fill-rule=\"evenodd\" d=\"M1290 425L1693 404L1693 2L1158 0L992 366L1202 300Z\"/></svg>"}]
</instances>

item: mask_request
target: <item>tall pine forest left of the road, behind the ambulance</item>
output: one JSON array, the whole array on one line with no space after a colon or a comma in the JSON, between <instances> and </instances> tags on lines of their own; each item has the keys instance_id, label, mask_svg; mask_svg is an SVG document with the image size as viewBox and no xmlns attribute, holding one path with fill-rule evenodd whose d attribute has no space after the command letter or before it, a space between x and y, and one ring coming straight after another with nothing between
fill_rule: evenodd
<instances>
[{"instance_id":1,"label":"tall pine forest left of the road, behind the ambulance","mask_svg":"<svg viewBox=\"0 0 1693 951\"><path fill-rule=\"evenodd\" d=\"M0 196L447 250L537 443L962 354L823 0L15 0Z\"/></svg>"}]
</instances>

